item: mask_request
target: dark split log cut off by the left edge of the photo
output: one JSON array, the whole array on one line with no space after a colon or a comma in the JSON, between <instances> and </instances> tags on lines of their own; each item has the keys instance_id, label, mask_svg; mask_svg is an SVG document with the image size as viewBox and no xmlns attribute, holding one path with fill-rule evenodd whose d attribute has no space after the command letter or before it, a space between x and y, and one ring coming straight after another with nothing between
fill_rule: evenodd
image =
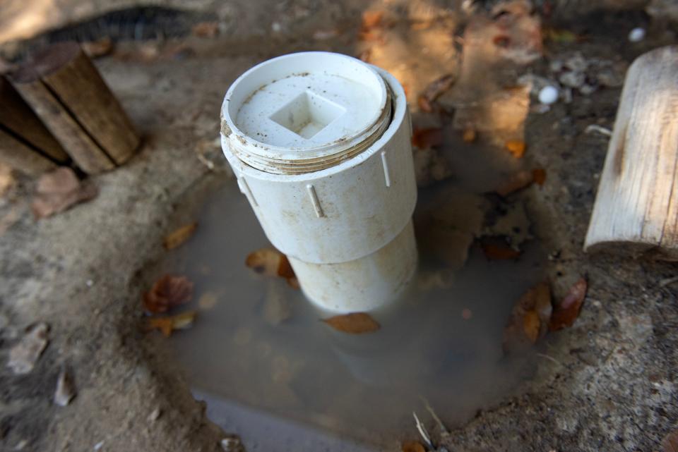
<instances>
[{"instance_id":1,"label":"dark split log cut off by the left edge of the photo","mask_svg":"<svg viewBox=\"0 0 678 452\"><path fill-rule=\"evenodd\" d=\"M59 142L1 75L0 160L29 176L39 176L70 160Z\"/></svg>"}]
</instances>

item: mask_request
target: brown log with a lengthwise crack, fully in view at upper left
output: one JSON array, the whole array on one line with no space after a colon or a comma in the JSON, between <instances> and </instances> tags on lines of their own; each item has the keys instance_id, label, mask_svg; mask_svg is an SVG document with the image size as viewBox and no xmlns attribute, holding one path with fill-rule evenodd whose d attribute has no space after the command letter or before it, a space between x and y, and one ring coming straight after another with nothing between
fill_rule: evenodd
<instances>
[{"instance_id":1,"label":"brown log with a lengthwise crack, fully in view at upper left","mask_svg":"<svg viewBox=\"0 0 678 452\"><path fill-rule=\"evenodd\" d=\"M136 151L129 118L77 43L41 51L11 82L86 173L113 169Z\"/></svg>"}]
</instances>

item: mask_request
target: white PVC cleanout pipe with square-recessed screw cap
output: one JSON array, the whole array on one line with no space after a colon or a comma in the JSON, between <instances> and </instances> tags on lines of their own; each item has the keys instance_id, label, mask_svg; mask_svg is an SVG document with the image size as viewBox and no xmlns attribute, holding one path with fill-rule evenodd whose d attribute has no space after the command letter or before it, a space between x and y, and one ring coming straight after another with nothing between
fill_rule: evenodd
<instances>
[{"instance_id":1,"label":"white PVC cleanout pipe with square-recessed screw cap","mask_svg":"<svg viewBox=\"0 0 678 452\"><path fill-rule=\"evenodd\" d=\"M405 92L350 56L264 61L229 88L221 142L268 240L332 312L398 298L417 267Z\"/></svg>"}]
</instances>

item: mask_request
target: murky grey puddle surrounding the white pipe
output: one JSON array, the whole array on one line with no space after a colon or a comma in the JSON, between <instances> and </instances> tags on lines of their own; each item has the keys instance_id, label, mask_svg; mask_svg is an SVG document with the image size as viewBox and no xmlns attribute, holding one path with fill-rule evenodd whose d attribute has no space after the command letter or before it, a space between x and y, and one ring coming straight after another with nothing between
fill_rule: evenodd
<instances>
[{"instance_id":1,"label":"murky grey puddle surrounding the white pipe","mask_svg":"<svg viewBox=\"0 0 678 452\"><path fill-rule=\"evenodd\" d=\"M456 149L448 160L463 159ZM516 209L524 217L519 200L480 194L505 166L481 165L474 149L465 164L477 177L420 189L420 268L397 303L371 313L381 324L372 334L334 331L300 291L248 269L246 255L269 243L246 198L234 181L208 197L169 262L194 281L186 309L198 310L171 341L210 418L248 451L398 450L417 438L412 411L434 429L428 404L454 427L530 377L534 352L506 357L502 340L545 253L529 225L510 224ZM498 239L504 230L513 237ZM482 235L513 240L520 257L490 259Z\"/></svg>"}]
</instances>

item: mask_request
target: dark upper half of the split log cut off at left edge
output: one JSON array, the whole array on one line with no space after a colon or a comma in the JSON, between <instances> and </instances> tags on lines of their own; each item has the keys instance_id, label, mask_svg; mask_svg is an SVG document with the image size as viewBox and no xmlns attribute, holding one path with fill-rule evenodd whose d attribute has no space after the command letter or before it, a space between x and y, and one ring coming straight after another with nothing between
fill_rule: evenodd
<instances>
[{"instance_id":1,"label":"dark upper half of the split log cut off at left edge","mask_svg":"<svg viewBox=\"0 0 678 452\"><path fill-rule=\"evenodd\" d=\"M18 137L48 159L58 164L66 164L70 157L49 130L44 127L40 118L14 90L10 83L0 75L0 129L5 133ZM21 170L21 168L17 168Z\"/></svg>"}]
</instances>

